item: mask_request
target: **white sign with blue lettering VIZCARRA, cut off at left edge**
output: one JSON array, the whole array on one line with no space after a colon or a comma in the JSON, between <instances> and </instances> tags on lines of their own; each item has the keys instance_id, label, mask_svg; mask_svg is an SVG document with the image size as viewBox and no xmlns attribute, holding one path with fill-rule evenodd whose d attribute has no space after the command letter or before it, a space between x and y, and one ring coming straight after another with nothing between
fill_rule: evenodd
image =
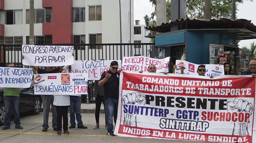
<instances>
[{"instance_id":1,"label":"white sign with blue lettering VIZCARRA, cut off at left edge","mask_svg":"<svg viewBox=\"0 0 256 143\"><path fill-rule=\"evenodd\" d=\"M0 87L28 88L32 76L30 68L0 67Z\"/></svg>"}]
</instances>

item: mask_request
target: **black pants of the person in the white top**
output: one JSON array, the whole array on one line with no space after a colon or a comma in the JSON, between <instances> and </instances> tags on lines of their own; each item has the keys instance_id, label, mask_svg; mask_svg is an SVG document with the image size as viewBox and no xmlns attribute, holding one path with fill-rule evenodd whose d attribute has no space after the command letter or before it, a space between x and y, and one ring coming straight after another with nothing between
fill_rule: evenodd
<instances>
[{"instance_id":1,"label":"black pants of the person in the white top","mask_svg":"<svg viewBox=\"0 0 256 143\"><path fill-rule=\"evenodd\" d=\"M56 106L57 110L57 129L61 130L63 118L63 130L68 130L68 106Z\"/></svg>"}]
</instances>

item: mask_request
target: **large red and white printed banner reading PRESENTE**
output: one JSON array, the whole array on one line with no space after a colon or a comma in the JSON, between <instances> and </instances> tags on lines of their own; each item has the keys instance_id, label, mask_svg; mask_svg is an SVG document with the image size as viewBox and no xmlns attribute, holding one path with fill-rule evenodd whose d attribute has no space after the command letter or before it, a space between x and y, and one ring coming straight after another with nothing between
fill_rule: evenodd
<instances>
[{"instance_id":1,"label":"large red and white printed banner reading PRESENTE","mask_svg":"<svg viewBox=\"0 0 256 143\"><path fill-rule=\"evenodd\" d=\"M255 79L123 71L114 134L255 143Z\"/></svg>"}]
</instances>

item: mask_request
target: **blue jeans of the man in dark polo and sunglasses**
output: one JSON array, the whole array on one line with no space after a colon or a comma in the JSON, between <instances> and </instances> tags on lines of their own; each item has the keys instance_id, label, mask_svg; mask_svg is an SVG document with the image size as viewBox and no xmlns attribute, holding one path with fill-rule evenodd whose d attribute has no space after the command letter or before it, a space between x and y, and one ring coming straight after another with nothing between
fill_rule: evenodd
<instances>
[{"instance_id":1,"label":"blue jeans of the man in dark polo and sunglasses","mask_svg":"<svg viewBox=\"0 0 256 143\"><path fill-rule=\"evenodd\" d=\"M106 121L108 125L108 133L113 133L113 116L114 122L116 124L117 118L117 107L118 107L118 99L107 98L105 99L105 113L106 113Z\"/></svg>"}]
</instances>

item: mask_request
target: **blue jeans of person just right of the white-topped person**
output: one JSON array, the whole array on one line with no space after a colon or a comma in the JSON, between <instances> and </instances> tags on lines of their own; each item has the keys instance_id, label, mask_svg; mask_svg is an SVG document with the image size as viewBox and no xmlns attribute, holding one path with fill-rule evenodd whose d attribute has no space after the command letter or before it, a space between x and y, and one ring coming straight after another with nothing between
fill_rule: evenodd
<instances>
[{"instance_id":1,"label":"blue jeans of person just right of the white-topped person","mask_svg":"<svg viewBox=\"0 0 256 143\"><path fill-rule=\"evenodd\" d=\"M81 115L81 97L80 96L70 96L70 106L69 106L69 114L70 114L70 124L72 126L83 125L82 115ZM76 117L75 117L76 114Z\"/></svg>"}]
</instances>

